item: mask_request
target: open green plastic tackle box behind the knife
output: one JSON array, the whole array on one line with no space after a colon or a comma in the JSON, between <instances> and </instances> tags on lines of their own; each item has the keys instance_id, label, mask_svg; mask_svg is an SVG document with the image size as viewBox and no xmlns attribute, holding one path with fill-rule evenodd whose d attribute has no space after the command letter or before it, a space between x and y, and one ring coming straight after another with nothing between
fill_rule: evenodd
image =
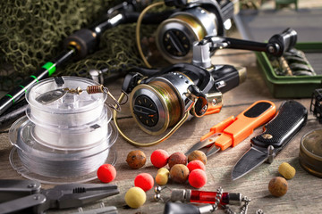
<instances>
[{"instance_id":1,"label":"open green plastic tackle box behind the knife","mask_svg":"<svg viewBox=\"0 0 322 214\"><path fill-rule=\"evenodd\" d=\"M256 52L259 70L275 98L311 97L314 89L322 87L322 43L298 43L295 47L305 53L317 76L277 76L267 53Z\"/></svg>"}]
</instances>

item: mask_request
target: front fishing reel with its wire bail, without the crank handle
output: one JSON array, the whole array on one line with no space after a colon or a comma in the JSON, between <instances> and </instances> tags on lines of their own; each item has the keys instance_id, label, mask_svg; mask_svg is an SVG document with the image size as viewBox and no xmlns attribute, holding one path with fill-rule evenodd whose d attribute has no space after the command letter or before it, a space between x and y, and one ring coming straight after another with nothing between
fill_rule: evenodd
<instances>
[{"instance_id":1,"label":"front fishing reel with its wire bail, without the crank handle","mask_svg":"<svg viewBox=\"0 0 322 214\"><path fill-rule=\"evenodd\" d=\"M160 135L172 128L156 142L138 143L123 134L114 111L114 123L120 135L137 146L158 144L174 134L186 120L203 117L209 111L219 112L223 93L246 78L244 68L236 69L231 65L216 65L206 70L189 63L177 63L158 71L135 70L140 72L125 76L118 102L123 103L123 98L131 93L129 101L133 119L149 135Z\"/></svg>"}]
</instances>

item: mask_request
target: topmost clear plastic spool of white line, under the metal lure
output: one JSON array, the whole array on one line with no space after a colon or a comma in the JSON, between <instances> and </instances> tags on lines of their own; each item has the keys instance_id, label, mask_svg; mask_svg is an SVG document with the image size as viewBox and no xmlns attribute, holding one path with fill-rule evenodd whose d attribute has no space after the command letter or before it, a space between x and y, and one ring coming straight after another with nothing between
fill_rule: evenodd
<instances>
[{"instance_id":1,"label":"topmost clear plastic spool of white line, under the metal lure","mask_svg":"<svg viewBox=\"0 0 322 214\"><path fill-rule=\"evenodd\" d=\"M36 101L39 95L55 89L65 87L96 86L97 83L87 78L64 77L64 85L57 86L54 78L48 78L30 88L26 100L30 104L30 118L43 125L60 128L80 127L97 120L102 113L107 95L98 93L89 95L83 92L80 95L67 93L53 103L42 104Z\"/></svg>"}]
</instances>

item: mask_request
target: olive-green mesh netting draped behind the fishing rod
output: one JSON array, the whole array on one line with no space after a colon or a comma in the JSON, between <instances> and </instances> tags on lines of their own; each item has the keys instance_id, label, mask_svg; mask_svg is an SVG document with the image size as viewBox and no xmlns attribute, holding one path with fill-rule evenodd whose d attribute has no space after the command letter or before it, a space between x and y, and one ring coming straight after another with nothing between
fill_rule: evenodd
<instances>
[{"instance_id":1,"label":"olive-green mesh netting draped behind the fishing rod","mask_svg":"<svg viewBox=\"0 0 322 214\"><path fill-rule=\"evenodd\" d=\"M0 2L0 90L10 90L63 51L64 38L99 20L114 0L2 0ZM142 65L135 45L135 24L107 30L98 51L67 62L55 76L89 77L90 69L105 74Z\"/></svg>"}]
</instances>

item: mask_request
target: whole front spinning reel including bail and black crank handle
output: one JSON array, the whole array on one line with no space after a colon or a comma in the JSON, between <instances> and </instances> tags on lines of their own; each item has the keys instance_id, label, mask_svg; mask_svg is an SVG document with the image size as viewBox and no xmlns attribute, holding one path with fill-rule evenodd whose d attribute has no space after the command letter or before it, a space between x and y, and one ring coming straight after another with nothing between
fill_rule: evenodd
<instances>
[{"instance_id":1,"label":"whole front spinning reel including bail and black crank handle","mask_svg":"<svg viewBox=\"0 0 322 214\"><path fill-rule=\"evenodd\" d=\"M142 144L125 136L117 123L120 135L137 146L158 144L182 126L184 121L202 117L209 109L219 112L223 93L239 86L246 78L244 68L230 65L212 65L210 56L221 48L262 51L280 56L296 44L297 33L286 29L271 37L268 43L257 43L226 37L205 37L193 44L192 63L177 63L163 70L134 69L123 81L123 93L118 99L130 95L131 114L140 128L149 135L159 135L173 127L156 142Z\"/></svg>"}]
</instances>

